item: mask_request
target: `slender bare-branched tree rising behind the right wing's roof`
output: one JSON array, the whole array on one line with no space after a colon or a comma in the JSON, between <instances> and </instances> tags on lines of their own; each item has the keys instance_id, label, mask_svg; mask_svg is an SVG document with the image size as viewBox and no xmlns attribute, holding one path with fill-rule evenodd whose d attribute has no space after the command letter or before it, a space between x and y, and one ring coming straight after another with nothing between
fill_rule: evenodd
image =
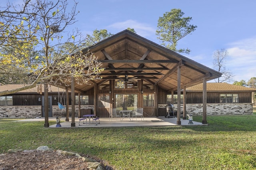
<instances>
[{"instance_id":1,"label":"slender bare-branched tree rising behind the right wing's roof","mask_svg":"<svg viewBox=\"0 0 256 170\"><path fill-rule=\"evenodd\" d=\"M222 83L224 81L230 82L233 81L234 75L228 69L226 69L226 58L228 57L228 51L226 49L216 50L213 55L213 67L220 73L222 73L222 77L218 77L218 83Z\"/></svg>"}]
</instances>

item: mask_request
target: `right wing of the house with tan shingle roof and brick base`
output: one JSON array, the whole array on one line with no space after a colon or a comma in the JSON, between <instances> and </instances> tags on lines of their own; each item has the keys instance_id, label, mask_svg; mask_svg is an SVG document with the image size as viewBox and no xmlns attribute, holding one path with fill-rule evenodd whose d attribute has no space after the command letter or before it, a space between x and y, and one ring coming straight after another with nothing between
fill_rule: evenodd
<instances>
[{"instance_id":1,"label":"right wing of the house with tan shingle roof and brick base","mask_svg":"<svg viewBox=\"0 0 256 170\"><path fill-rule=\"evenodd\" d=\"M202 83L186 88L186 111L202 115ZM207 83L208 115L252 115L256 89L228 83ZM182 96L183 98L183 96Z\"/></svg>"}]
</instances>

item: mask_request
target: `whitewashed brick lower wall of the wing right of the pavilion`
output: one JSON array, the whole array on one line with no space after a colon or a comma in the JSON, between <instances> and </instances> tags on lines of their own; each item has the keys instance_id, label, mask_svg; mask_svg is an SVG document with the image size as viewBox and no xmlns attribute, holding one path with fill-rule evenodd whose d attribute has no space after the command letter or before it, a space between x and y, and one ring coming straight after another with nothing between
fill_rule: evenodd
<instances>
[{"instance_id":1,"label":"whitewashed brick lower wall of the wing right of the pavilion","mask_svg":"<svg viewBox=\"0 0 256 170\"><path fill-rule=\"evenodd\" d=\"M158 108L165 108L166 104L158 105ZM177 104L174 104L174 111L177 110ZM183 111L183 104L180 106ZM207 115L252 115L252 103L208 103ZM203 115L203 104L186 104L186 114Z\"/></svg>"}]
</instances>

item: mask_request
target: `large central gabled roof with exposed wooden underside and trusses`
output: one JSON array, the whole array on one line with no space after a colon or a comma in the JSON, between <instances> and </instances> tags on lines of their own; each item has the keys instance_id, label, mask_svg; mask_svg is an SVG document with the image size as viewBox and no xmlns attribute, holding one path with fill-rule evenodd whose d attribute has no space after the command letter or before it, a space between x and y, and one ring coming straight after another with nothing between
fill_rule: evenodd
<instances>
[{"instance_id":1,"label":"large central gabled roof with exposed wooden underside and trusses","mask_svg":"<svg viewBox=\"0 0 256 170\"><path fill-rule=\"evenodd\" d=\"M180 66L181 85L191 86L221 77L221 73L151 42L129 30L89 47L105 70L101 80L91 81L91 85L75 84L76 91L87 91L94 84L110 79L143 80L158 85L166 91L177 90L177 68ZM87 53L88 49L83 52Z\"/></svg>"}]
</instances>

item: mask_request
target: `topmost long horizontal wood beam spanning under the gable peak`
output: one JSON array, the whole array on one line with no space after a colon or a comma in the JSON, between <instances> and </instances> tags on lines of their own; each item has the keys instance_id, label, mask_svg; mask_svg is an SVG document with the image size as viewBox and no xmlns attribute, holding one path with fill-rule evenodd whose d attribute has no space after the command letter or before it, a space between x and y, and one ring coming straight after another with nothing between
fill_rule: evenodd
<instances>
[{"instance_id":1,"label":"topmost long horizontal wood beam spanning under the gable peak","mask_svg":"<svg viewBox=\"0 0 256 170\"><path fill-rule=\"evenodd\" d=\"M176 60L98 60L102 63L177 63Z\"/></svg>"}]
</instances>

